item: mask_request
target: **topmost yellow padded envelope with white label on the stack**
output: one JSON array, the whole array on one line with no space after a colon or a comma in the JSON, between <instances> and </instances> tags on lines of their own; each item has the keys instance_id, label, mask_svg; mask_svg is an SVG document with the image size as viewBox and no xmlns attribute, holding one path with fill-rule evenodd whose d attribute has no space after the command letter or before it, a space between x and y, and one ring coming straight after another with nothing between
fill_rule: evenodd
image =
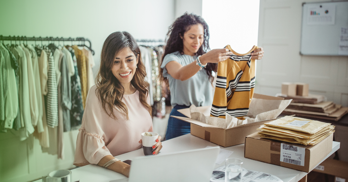
<instances>
[{"instance_id":1,"label":"topmost yellow padded envelope with white label on the stack","mask_svg":"<svg viewBox=\"0 0 348 182\"><path fill-rule=\"evenodd\" d=\"M285 116L283 118L264 123L266 126L284 128L289 130L301 131L309 134L315 134L331 123L324 123L315 120L303 119L300 117Z\"/></svg>"}]
</instances>

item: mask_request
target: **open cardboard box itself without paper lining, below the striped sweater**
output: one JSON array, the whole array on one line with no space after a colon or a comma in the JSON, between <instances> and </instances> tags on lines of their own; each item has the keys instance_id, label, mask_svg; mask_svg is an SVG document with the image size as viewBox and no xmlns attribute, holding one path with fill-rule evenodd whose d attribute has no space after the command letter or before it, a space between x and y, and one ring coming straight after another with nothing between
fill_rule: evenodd
<instances>
[{"instance_id":1,"label":"open cardboard box itself without paper lining, below the striped sweater","mask_svg":"<svg viewBox=\"0 0 348 182\"><path fill-rule=\"evenodd\" d=\"M262 94L254 93L253 98L257 99L267 99L267 100L284 100L281 97L272 97ZM205 116L210 116L211 106L196 107ZM245 137L258 132L256 130L263 123L270 122L276 119L263 120L258 122L252 122L247 124L242 124L229 129L223 129L210 124L206 124L194 119L191 119L190 108L177 110L187 117L171 116L176 119L180 119L191 123L191 135L197 136L199 138L205 139L206 141L215 143L223 147L229 147L233 145L242 144L245 142Z\"/></svg>"}]
</instances>

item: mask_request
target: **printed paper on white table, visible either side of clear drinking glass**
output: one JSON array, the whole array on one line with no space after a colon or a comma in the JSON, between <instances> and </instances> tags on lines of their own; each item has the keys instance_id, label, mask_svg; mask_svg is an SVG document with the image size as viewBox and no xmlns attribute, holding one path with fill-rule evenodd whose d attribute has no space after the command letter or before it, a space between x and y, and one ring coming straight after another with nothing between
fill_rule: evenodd
<instances>
[{"instance_id":1,"label":"printed paper on white table, visible either side of clear drinking glass","mask_svg":"<svg viewBox=\"0 0 348 182\"><path fill-rule=\"evenodd\" d=\"M242 167L242 182L283 182L279 177L257 172L253 170L247 170ZM210 178L211 182L224 182L225 181L225 165L216 168L213 171L212 177Z\"/></svg>"}]
</instances>

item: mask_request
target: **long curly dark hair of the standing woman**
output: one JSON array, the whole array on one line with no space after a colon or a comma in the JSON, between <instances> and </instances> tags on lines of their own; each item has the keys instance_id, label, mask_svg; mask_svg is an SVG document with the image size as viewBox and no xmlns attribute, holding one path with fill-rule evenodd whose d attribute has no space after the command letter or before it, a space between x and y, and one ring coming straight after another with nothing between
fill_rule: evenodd
<instances>
[{"instance_id":1,"label":"long curly dark hair of the standing woman","mask_svg":"<svg viewBox=\"0 0 348 182\"><path fill-rule=\"evenodd\" d=\"M192 25L201 24L204 28L204 38L203 38L203 44L199 47L196 55L203 55L210 51L209 47L209 27L207 23L204 21L204 19L198 15L195 14L188 14L187 12L180 16L179 18L176 18L175 22L169 26L169 31L166 36L166 44L164 46L164 54L162 56L161 63L163 62L164 57L167 54L179 51L180 54L183 53L183 40L181 37L184 36L184 33L188 30L190 30L190 27ZM161 65L161 64L159 64ZM209 81L213 82L214 77L212 76L212 71L217 72L217 63L208 63L208 65L205 67L205 70L207 71L207 75L209 76ZM160 80L164 81L166 83L166 86L168 87L168 79L163 77L163 68L160 70ZM169 88L168 88L169 89Z\"/></svg>"}]
</instances>

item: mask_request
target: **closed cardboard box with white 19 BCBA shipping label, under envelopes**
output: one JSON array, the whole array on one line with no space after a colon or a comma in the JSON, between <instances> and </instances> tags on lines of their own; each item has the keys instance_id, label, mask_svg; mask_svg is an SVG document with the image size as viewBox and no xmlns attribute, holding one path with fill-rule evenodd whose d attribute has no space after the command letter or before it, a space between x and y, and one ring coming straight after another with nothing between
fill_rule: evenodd
<instances>
[{"instance_id":1,"label":"closed cardboard box with white 19 BCBA shipping label, under envelopes","mask_svg":"<svg viewBox=\"0 0 348 182\"><path fill-rule=\"evenodd\" d=\"M306 146L261 138L255 132L245 137L244 157L309 173L332 151L332 141L333 134Z\"/></svg>"}]
</instances>

